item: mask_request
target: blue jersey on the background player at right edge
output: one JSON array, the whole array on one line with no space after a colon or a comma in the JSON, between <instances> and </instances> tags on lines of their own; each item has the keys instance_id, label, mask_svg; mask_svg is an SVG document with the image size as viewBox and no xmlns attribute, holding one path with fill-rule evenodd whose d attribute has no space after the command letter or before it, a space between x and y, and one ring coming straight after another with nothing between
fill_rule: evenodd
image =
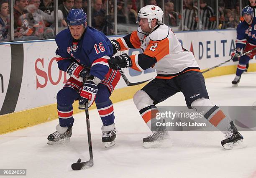
<instances>
[{"instance_id":1,"label":"blue jersey on the background player at right edge","mask_svg":"<svg viewBox=\"0 0 256 178\"><path fill-rule=\"evenodd\" d=\"M253 17L251 25L248 25L246 21L241 22L237 26L236 32L236 48L243 49L246 43L256 46L256 17Z\"/></svg>"}]
</instances>

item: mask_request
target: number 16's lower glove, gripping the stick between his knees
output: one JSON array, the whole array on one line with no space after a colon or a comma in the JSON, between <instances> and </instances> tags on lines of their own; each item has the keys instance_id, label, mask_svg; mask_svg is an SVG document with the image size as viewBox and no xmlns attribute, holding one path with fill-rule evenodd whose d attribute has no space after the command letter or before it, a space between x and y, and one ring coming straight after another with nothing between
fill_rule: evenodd
<instances>
[{"instance_id":1,"label":"number 16's lower glove, gripping the stick between his knees","mask_svg":"<svg viewBox=\"0 0 256 178\"><path fill-rule=\"evenodd\" d=\"M96 94L98 92L97 85L92 80L87 80L84 83L83 89L80 94L80 100L79 100L79 109L82 109L80 105L85 105L85 102L88 102L88 107L92 106Z\"/></svg>"}]
</instances>

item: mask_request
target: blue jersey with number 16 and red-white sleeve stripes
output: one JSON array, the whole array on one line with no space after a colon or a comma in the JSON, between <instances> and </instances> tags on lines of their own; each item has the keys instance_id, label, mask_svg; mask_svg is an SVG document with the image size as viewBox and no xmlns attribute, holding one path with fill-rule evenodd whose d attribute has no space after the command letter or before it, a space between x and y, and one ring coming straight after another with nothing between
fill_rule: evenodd
<instances>
[{"instance_id":1,"label":"blue jersey with number 16 and red-white sleeve stripes","mask_svg":"<svg viewBox=\"0 0 256 178\"><path fill-rule=\"evenodd\" d=\"M87 26L81 39L74 42L69 29L65 29L56 35L55 41L58 46L56 60L60 70L67 71L72 63L77 62L91 68L91 75L101 80L105 78L113 48L102 32Z\"/></svg>"}]
</instances>

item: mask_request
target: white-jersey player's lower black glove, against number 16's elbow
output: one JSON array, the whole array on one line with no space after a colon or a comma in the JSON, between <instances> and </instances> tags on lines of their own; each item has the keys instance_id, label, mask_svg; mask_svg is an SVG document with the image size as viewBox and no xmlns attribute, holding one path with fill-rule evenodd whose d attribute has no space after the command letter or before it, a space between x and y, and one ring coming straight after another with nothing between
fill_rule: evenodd
<instances>
[{"instance_id":1,"label":"white-jersey player's lower black glove, against number 16's elbow","mask_svg":"<svg viewBox=\"0 0 256 178\"><path fill-rule=\"evenodd\" d=\"M131 67L132 61L131 61L131 57L128 56L128 54L124 53L120 56L115 56L115 57L111 57L110 60L108 61L109 67L111 69L121 69L121 68L125 68L125 67Z\"/></svg>"}]
</instances>

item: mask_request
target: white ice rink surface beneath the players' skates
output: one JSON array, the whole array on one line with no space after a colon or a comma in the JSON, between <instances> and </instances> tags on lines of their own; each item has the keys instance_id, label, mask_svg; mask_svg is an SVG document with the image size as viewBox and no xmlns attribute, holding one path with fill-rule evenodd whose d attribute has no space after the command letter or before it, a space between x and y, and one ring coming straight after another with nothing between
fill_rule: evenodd
<instances>
[{"instance_id":1,"label":"white ice rink surface beneath the players' skates","mask_svg":"<svg viewBox=\"0 0 256 178\"><path fill-rule=\"evenodd\" d=\"M251 106L256 101L256 73L243 74L232 88L233 75L206 79L212 102L220 106ZM161 106L184 106L178 93ZM90 110L94 166L74 171L78 158L89 160L85 114L75 114L71 141L47 145L58 120L0 135L0 169L27 169L28 178L256 178L256 132L241 132L247 147L224 150L222 132L169 132L164 147L145 149L142 138L151 132L132 99L115 103L116 145L105 149L102 122ZM2 177L2 176L1 176ZM4 177L4 176L3 176ZM9 177L9 176L8 176Z\"/></svg>"}]
</instances>

